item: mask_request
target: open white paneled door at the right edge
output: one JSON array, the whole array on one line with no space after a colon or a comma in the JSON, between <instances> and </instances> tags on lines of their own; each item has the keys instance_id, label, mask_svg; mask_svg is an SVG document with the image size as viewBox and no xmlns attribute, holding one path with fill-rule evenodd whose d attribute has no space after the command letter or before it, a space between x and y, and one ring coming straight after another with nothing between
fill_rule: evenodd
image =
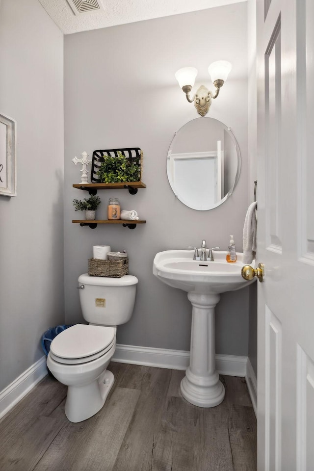
<instances>
[{"instance_id":1,"label":"open white paneled door at the right edge","mask_svg":"<svg viewBox=\"0 0 314 471\"><path fill-rule=\"evenodd\" d=\"M257 0L258 471L314 470L314 0Z\"/></svg>"}]
</instances>

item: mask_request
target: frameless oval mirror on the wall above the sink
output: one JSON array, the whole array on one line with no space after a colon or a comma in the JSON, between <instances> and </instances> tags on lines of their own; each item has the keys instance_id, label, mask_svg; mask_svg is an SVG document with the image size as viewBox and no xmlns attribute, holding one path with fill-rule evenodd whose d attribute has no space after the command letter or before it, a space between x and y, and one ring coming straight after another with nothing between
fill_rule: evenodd
<instances>
[{"instance_id":1,"label":"frameless oval mirror on the wall above the sink","mask_svg":"<svg viewBox=\"0 0 314 471\"><path fill-rule=\"evenodd\" d=\"M221 205L239 179L240 149L235 136L214 118L196 118L176 132L167 156L170 186L192 209Z\"/></svg>"}]
</instances>

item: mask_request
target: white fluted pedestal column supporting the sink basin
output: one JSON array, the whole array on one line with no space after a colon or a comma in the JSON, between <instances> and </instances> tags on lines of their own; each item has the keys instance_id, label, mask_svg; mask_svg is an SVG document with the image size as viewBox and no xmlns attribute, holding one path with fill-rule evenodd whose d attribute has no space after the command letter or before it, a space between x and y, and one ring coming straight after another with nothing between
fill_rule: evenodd
<instances>
[{"instance_id":1,"label":"white fluted pedestal column supporting the sink basin","mask_svg":"<svg viewBox=\"0 0 314 471\"><path fill-rule=\"evenodd\" d=\"M214 407L225 397L215 370L215 306L219 294L190 291L192 308L190 365L181 381L183 397L199 407Z\"/></svg>"}]
</instances>

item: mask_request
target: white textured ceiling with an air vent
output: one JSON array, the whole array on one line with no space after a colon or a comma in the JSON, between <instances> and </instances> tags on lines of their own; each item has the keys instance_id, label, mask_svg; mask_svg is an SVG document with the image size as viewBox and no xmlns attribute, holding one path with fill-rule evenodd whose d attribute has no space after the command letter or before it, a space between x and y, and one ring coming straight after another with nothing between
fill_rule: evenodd
<instances>
[{"instance_id":1,"label":"white textured ceiling with an air vent","mask_svg":"<svg viewBox=\"0 0 314 471\"><path fill-rule=\"evenodd\" d=\"M64 34L205 10L246 0L39 0ZM90 10L89 10L90 8Z\"/></svg>"}]
</instances>

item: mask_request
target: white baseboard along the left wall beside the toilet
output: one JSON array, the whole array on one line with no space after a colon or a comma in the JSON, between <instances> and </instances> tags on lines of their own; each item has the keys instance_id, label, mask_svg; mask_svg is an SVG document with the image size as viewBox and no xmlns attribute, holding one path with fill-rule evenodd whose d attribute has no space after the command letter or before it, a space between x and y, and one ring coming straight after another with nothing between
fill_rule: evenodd
<instances>
[{"instance_id":1,"label":"white baseboard along the left wall beside the toilet","mask_svg":"<svg viewBox=\"0 0 314 471\"><path fill-rule=\"evenodd\" d=\"M41 357L0 392L0 419L47 374L46 356Z\"/></svg>"}]
</instances>

